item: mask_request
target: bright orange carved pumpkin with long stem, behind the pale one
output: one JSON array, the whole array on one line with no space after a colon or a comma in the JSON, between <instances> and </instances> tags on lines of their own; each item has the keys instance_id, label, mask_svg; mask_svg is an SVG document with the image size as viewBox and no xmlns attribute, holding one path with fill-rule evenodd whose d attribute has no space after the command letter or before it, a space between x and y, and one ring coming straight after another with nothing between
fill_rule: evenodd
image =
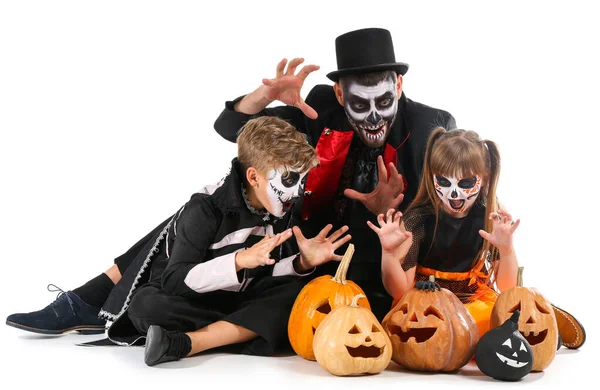
<instances>
[{"instance_id":1,"label":"bright orange carved pumpkin with long stem, behind the pale one","mask_svg":"<svg viewBox=\"0 0 600 390\"><path fill-rule=\"evenodd\" d=\"M340 305L348 305L352 298L363 294L358 304L371 310L363 290L350 280L346 273L354 254L350 244L334 277L320 276L311 280L296 297L288 321L288 337L294 351L305 359L315 360L313 337L327 314Z\"/></svg>"}]
</instances>

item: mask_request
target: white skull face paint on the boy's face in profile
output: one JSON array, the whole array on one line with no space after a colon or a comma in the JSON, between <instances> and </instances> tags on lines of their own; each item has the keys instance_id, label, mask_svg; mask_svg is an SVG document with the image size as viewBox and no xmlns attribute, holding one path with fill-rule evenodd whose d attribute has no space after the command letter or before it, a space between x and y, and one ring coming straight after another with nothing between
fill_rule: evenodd
<instances>
[{"instance_id":1,"label":"white skull face paint on the boy's face in profile","mask_svg":"<svg viewBox=\"0 0 600 390\"><path fill-rule=\"evenodd\" d=\"M267 197L268 211L276 217L283 217L296 203L304 191L308 172L271 170L268 175ZM266 206L266 205L265 205Z\"/></svg>"}]
</instances>

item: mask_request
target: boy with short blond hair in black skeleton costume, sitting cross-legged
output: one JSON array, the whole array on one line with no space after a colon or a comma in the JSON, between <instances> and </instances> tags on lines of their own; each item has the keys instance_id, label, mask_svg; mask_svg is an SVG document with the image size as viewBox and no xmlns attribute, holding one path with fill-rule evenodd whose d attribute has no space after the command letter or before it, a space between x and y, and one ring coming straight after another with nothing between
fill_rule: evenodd
<instances>
[{"instance_id":1,"label":"boy with short blond hair in black skeleton costume, sitting cross-legged","mask_svg":"<svg viewBox=\"0 0 600 390\"><path fill-rule=\"evenodd\" d=\"M142 251L141 266L127 269L119 282L125 288L115 287L112 294L129 296L109 339L131 345L147 335L150 366L231 344L255 355L286 347L288 317L303 286L298 276L339 259L334 251L350 240L347 228L327 238L328 226L310 240L294 228L300 253L282 245L292 236L287 212L317 164L314 149L287 122L249 121L230 173L194 194Z\"/></svg>"}]
</instances>

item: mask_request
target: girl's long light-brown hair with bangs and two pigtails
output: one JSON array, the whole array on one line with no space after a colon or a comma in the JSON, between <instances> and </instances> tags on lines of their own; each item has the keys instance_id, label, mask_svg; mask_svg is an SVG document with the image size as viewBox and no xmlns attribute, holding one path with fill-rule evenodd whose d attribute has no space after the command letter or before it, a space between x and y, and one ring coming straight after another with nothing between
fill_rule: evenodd
<instances>
[{"instance_id":1,"label":"girl's long light-brown hair with bangs and two pigtails","mask_svg":"<svg viewBox=\"0 0 600 390\"><path fill-rule=\"evenodd\" d=\"M496 144L493 141L482 140L479 134L471 130L447 131L438 127L430 134L421 184L407 212L413 209L432 211L435 214L437 231L442 201L435 192L433 183L435 174L447 177L481 176L481 190L476 202L485 207L485 231L490 232L492 221L487 217L500 207L496 196L496 186L500 176L500 153ZM474 262L485 259L488 252L491 254L491 260L496 259L497 251L497 248L485 240Z\"/></svg>"}]
</instances>

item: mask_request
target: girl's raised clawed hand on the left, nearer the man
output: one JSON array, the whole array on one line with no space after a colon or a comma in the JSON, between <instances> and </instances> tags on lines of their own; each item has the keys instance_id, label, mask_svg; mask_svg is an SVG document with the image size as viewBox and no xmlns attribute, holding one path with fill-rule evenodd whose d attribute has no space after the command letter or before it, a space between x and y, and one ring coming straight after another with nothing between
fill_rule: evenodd
<instances>
[{"instance_id":1,"label":"girl's raised clawed hand on the left, nearer the man","mask_svg":"<svg viewBox=\"0 0 600 390\"><path fill-rule=\"evenodd\" d=\"M384 253L398 255L397 251L399 250L401 252L399 255L402 257L406 256L412 245L412 234L402 231L400 228L402 213L400 211L394 213L394 211L394 209L389 209L385 216L383 214L377 216L380 227L375 226L371 221L367 221L367 225L379 236Z\"/></svg>"}]
</instances>

